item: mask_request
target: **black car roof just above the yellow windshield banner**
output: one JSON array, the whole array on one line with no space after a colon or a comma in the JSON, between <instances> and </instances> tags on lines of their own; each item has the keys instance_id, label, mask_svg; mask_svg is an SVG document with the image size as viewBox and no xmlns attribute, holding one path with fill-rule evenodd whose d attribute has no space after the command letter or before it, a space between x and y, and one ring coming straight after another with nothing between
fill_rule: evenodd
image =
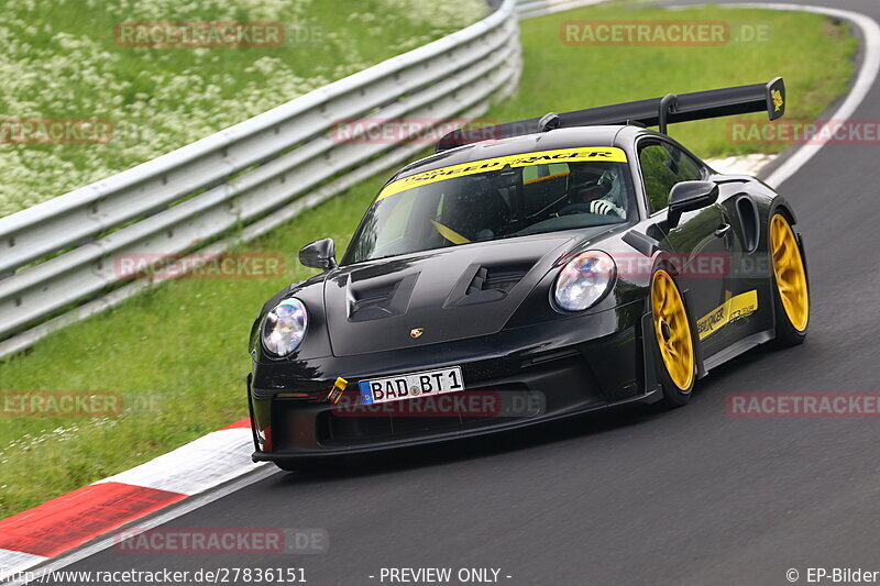
<instances>
[{"instance_id":1,"label":"black car roof just above the yellow windshield banner","mask_svg":"<svg viewBox=\"0 0 880 586\"><path fill-rule=\"evenodd\" d=\"M640 126L578 126L571 129L556 129L497 141L482 141L459 146L458 148L442 151L416 161L400 169L394 176L394 179L450 165L472 163L484 158L518 155L520 153L553 151L556 148L574 148L579 146L618 146L622 140L631 141L640 131L644 132L644 129Z\"/></svg>"}]
</instances>

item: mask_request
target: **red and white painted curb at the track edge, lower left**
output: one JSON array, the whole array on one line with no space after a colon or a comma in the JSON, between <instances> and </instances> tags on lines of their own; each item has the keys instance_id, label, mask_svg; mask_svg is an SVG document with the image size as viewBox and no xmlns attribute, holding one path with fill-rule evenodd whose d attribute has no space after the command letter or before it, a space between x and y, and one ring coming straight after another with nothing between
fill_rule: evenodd
<instances>
[{"instance_id":1,"label":"red and white painted curb at the track edge, lower left","mask_svg":"<svg viewBox=\"0 0 880 586\"><path fill-rule=\"evenodd\" d=\"M252 451L251 423L243 419L146 464L0 520L0 581L264 466L251 462Z\"/></svg>"}]
</instances>

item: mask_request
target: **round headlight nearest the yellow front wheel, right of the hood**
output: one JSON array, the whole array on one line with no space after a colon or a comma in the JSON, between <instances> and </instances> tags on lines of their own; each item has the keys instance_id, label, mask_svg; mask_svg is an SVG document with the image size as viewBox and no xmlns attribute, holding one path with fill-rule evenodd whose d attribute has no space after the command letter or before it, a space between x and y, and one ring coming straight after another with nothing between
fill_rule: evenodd
<instances>
[{"instance_id":1,"label":"round headlight nearest the yellow front wheel, right of the hood","mask_svg":"<svg viewBox=\"0 0 880 586\"><path fill-rule=\"evenodd\" d=\"M581 253L559 274L553 298L566 311L583 311L605 295L615 273L614 261L604 252Z\"/></svg>"}]
</instances>

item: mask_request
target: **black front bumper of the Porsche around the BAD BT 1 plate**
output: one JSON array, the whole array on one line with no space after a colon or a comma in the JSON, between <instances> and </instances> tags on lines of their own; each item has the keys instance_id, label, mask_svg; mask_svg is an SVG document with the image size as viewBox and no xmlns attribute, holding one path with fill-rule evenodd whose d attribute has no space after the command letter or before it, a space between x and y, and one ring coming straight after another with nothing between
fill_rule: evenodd
<instances>
[{"instance_id":1,"label":"black front bumper of the Porsche around the BAD BT 1 plate","mask_svg":"<svg viewBox=\"0 0 880 586\"><path fill-rule=\"evenodd\" d=\"M253 458L290 462L481 435L645 398L642 310L630 303L552 329L503 330L437 347L255 363L249 377ZM466 390L360 403L360 380L446 366L462 368ZM349 387L333 406L326 397L337 377ZM483 400L464 401L475 394Z\"/></svg>"}]
</instances>

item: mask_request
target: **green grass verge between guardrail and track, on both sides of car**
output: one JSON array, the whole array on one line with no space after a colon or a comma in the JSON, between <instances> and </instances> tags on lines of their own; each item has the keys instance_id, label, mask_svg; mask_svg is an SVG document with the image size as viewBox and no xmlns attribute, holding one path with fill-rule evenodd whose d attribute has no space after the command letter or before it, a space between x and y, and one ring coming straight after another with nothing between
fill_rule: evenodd
<instances>
[{"instance_id":1,"label":"green grass verge between guardrail and track, on both sides of car","mask_svg":"<svg viewBox=\"0 0 880 586\"><path fill-rule=\"evenodd\" d=\"M563 20L733 18L733 12L716 10L670 15L656 9L600 7L524 22L526 70L520 90L486 115L513 120L781 74L789 85L789 112L807 118L845 91L856 43L840 27L812 14L737 11L736 15L771 23L773 43L587 48L558 42ZM750 151L726 146L725 131L724 121L711 121L674 126L672 133L703 156ZM751 148L756 150L760 151ZM244 417L246 345L254 316L287 283L312 274L296 264L302 244L332 236L338 250L344 250L383 180L360 184L240 248L286 255L282 278L168 283L0 364L0 390L119 391L153 406L95 421L0 417L0 517L143 463Z\"/></svg>"}]
</instances>

